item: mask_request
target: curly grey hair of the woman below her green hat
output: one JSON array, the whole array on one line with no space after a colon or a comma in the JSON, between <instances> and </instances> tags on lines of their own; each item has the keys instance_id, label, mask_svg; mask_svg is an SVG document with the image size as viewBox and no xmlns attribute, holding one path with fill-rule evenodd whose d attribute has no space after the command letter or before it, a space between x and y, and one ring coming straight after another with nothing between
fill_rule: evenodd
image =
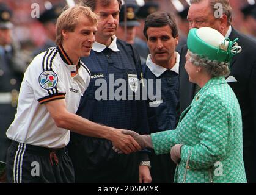
<instances>
[{"instance_id":1,"label":"curly grey hair of the woman below her green hat","mask_svg":"<svg viewBox=\"0 0 256 195\"><path fill-rule=\"evenodd\" d=\"M189 52L189 54L189 61L195 66L202 67L212 77L228 76L230 73L229 63L209 60L206 57L200 57L200 55L193 54L192 52Z\"/></svg>"}]
</instances>

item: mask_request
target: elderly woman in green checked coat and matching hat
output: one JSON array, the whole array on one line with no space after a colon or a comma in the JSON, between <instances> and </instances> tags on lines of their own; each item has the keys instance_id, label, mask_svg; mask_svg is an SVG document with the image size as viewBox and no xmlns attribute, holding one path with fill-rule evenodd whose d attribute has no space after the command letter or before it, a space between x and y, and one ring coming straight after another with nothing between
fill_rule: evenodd
<instances>
[{"instance_id":1,"label":"elderly woman in green checked coat and matching hat","mask_svg":"<svg viewBox=\"0 0 256 195\"><path fill-rule=\"evenodd\" d=\"M232 56L241 51L235 41L209 27L191 29L185 69L201 89L181 113L177 129L123 132L156 154L170 152L177 163L174 182L246 182L240 106L225 80Z\"/></svg>"}]
</instances>

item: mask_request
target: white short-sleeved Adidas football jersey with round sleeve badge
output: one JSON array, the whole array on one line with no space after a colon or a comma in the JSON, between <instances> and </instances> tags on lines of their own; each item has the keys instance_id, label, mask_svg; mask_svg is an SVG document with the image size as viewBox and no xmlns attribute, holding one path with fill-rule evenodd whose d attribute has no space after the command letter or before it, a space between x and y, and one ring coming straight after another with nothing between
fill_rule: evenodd
<instances>
[{"instance_id":1,"label":"white short-sleeved Adidas football jersey with round sleeve badge","mask_svg":"<svg viewBox=\"0 0 256 195\"><path fill-rule=\"evenodd\" d=\"M70 131L56 126L43 103L65 98L68 112L76 113L89 85L90 71L80 61L78 74L71 77L76 65L68 64L66 56L63 48L49 48L28 66L21 83L17 113L6 133L8 138L48 148L67 146Z\"/></svg>"}]
</instances>

